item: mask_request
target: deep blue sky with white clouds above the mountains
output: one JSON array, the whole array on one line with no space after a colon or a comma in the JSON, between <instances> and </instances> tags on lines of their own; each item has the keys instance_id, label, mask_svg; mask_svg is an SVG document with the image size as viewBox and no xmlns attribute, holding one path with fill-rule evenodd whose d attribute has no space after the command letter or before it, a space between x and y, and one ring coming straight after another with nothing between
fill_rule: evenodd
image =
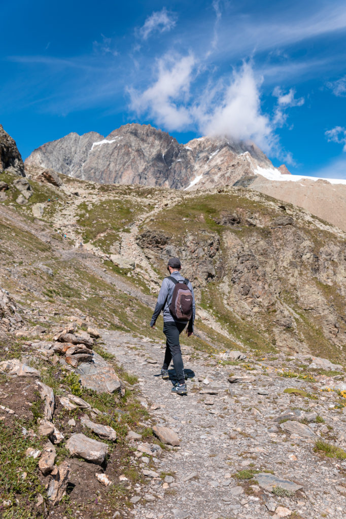
<instances>
[{"instance_id":1,"label":"deep blue sky with white clouds above the mountains","mask_svg":"<svg viewBox=\"0 0 346 519\"><path fill-rule=\"evenodd\" d=\"M1 2L0 122L23 158L72 131L150 123L254 140L346 178L346 4Z\"/></svg>"}]
</instances>

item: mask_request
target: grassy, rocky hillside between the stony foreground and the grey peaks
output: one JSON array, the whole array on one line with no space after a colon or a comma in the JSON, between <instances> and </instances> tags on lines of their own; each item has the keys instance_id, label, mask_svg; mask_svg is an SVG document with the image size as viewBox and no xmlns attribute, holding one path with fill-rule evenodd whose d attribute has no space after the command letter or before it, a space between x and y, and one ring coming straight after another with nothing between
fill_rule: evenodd
<instances>
[{"instance_id":1,"label":"grassy, rocky hillside between the stony foreground and the grey peaks","mask_svg":"<svg viewBox=\"0 0 346 519\"><path fill-rule=\"evenodd\" d=\"M5 180L2 262L15 276L11 290L29 285L36 301L53 298L100 323L141 333L167 259L179 255L196 290L201 348L238 345L344 359L345 235L307 212L239 187L182 192L69 177L60 188L30 180L33 195L20 206L10 175ZM20 230L15 252L11 236L19 230L5 228L24 217L29 230L37 200L43 211L33 233L42 222L55 241L54 254L40 253L33 270L33 253L23 247L32 240ZM14 253L22 266L13 264ZM46 262L54 277L36 277Z\"/></svg>"}]
</instances>

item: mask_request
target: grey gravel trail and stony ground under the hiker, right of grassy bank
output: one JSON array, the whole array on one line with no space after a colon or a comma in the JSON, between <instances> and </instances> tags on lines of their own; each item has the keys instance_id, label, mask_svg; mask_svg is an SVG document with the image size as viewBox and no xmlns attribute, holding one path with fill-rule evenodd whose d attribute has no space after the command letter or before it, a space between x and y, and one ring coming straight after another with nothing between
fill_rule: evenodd
<instances>
[{"instance_id":1,"label":"grey gravel trail and stony ground under the hiker, right of grassy bank","mask_svg":"<svg viewBox=\"0 0 346 519\"><path fill-rule=\"evenodd\" d=\"M333 366L303 356L236 361L230 359L246 356L232 351L210 358L191 345L183 348L188 396L179 397L170 393L172 381L159 376L163 344L106 330L101 336L103 348L139 377L151 423L180 439L151 458L149 495L138 485L134 517L344 517L346 456L314 452L316 441L328 438L346 446L346 408L336 404L346 389L342 371L313 376L318 370L311 367L298 378L302 364Z\"/></svg>"}]
</instances>

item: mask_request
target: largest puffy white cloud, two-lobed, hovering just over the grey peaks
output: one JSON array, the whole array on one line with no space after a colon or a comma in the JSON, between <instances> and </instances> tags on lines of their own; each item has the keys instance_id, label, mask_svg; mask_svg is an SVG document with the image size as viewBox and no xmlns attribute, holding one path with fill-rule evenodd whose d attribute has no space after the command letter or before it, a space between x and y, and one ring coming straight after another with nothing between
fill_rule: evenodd
<instances>
[{"instance_id":1,"label":"largest puffy white cloud, two-lobed, hovering just over the grey peaks","mask_svg":"<svg viewBox=\"0 0 346 519\"><path fill-rule=\"evenodd\" d=\"M195 86L199 61L192 55L164 56L157 62L156 79L143 92L129 90L130 107L148 114L168 131L197 129L205 135L254 140L264 151L280 154L274 125L262 114L260 84L249 63L234 71L227 81ZM282 153L281 153L281 156ZM285 158L292 162L288 155Z\"/></svg>"}]
</instances>

